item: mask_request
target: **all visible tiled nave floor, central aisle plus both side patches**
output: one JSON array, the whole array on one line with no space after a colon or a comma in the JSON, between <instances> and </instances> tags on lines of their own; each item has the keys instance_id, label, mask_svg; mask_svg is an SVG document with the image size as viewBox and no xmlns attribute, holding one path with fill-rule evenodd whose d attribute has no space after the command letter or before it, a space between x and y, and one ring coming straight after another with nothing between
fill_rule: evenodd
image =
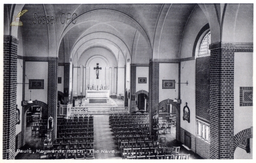
<instances>
[{"instance_id":1,"label":"all visible tiled nave floor, central aisle plus both side patches","mask_svg":"<svg viewBox=\"0 0 256 163\"><path fill-rule=\"evenodd\" d=\"M117 144L115 143L114 135L108 123L109 115L94 115L94 149L95 159L122 159L119 154ZM35 122L34 122L35 123ZM33 153L19 153L15 159L39 159L37 149L43 149L41 139L31 137L31 123L27 126L26 145L21 149L30 149ZM175 127L172 126L171 134L161 134L160 137L166 137L166 146L180 146L180 154L191 154L189 159L202 159L198 154L185 149L182 144L175 140Z\"/></svg>"}]
</instances>

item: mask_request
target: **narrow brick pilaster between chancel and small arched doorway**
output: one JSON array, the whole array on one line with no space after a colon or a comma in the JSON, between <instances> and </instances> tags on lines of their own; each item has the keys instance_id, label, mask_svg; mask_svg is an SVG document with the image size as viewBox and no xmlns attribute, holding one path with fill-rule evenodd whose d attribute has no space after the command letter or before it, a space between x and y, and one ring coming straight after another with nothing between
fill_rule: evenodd
<instances>
[{"instance_id":1,"label":"narrow brick pilaster between chancel and small arched doorway","mask_svg":"<svg viewBox=\"0 0 256 163\"><path fill-rule=\"evenodd\" d=\"M136 66L131 65L131 96L135 94L136 94ZM131 100L131 112L134 112L134 111L136 111L136 100Z\"/></svg>"}]
</instances>

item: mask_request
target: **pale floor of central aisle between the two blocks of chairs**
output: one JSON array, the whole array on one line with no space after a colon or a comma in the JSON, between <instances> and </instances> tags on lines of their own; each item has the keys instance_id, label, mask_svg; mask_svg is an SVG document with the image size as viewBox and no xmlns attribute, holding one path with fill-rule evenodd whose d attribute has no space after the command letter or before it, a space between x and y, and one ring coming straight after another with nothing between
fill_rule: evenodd
<instances>
[{"instance_id":1,"label":"pale floor of central aisle between the two blocks of chairs","mask_svg":"<svg viewBox=\"0 0 256 163\"><path fill-rule=\"evenodd\" d=\"M108 123L109 115L93 115L95 159L122 159ZM114 151L114 153L113 153Z\"/></svg>"}]
</instances>

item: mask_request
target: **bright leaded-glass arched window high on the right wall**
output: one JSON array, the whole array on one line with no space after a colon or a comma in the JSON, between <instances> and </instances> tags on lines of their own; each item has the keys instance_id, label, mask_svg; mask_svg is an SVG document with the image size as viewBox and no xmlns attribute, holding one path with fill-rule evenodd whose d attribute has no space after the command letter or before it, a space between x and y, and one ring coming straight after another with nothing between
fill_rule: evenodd
<instances>
[{"instance_id":1,"label":"bright leaded-glass arched window high on the right wall","mask_svg":"<svg viewBox=\"0 0 256 163\"><path fill-rule=\"evenodd\" d=\"M210 55L210 50L209 50L210 43L211 43L211 32L208 31L201 41L197 57L206 57Z\"/></svg>"}]
</instances>

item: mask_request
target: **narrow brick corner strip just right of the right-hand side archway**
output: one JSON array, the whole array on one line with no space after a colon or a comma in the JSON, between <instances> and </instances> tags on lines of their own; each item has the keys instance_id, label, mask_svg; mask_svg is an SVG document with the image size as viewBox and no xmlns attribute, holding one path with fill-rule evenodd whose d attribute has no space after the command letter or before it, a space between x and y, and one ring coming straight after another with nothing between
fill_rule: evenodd
<instances>
[{"instance_id":1,"label":"narrow brick corner strip just right of the right-hand side archway","mask_svg":"<svg viewBox=\"0 0 256 163\"><path fill-rule=\"evenodd\" d=\"M180 99L180 62L179 62L179 74L178 74L178 99ZM176 140L180 140L180 104L176 105Z\"/></svg>"}]
</instances>

